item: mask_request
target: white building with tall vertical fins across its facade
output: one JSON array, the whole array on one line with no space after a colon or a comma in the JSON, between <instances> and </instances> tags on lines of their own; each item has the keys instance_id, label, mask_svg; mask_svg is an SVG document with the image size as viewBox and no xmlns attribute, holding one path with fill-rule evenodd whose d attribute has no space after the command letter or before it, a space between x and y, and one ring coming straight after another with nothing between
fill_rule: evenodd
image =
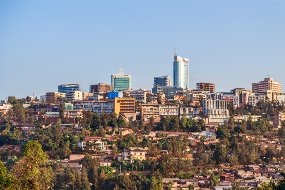
<instances>
[{"instance_id":1,"label":"white building with tall vertical fins across its facade","mask_svg":"<svg viewBox=\"0 0 285 190\"><path fill-rule=\"evenodd\" d=\"M227 100L203 100L203 115L208 115L209 123L228 121Z\"/></svg>"}]
</instances>

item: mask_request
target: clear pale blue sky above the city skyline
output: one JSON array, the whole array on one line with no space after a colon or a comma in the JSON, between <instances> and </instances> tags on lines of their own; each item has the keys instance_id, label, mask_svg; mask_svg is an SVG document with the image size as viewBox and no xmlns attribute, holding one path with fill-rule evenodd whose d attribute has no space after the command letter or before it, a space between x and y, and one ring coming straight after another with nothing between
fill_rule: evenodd
<instances>
[{"instance_id":1,"label":"clear pale blue sky above the city skyline","mask_svg":"<svg viewBox=\"0 0 285 190\"><path fill-rule=\"evenodd\" d=\"M285 85L285 1L0 1L0 99L110 84L122 64L132 88L173 77L174 47L189 87ZM283 86L283 89L285 86ZM285 92L285 90L283 90Z\"/></svg>"}]
</instances>

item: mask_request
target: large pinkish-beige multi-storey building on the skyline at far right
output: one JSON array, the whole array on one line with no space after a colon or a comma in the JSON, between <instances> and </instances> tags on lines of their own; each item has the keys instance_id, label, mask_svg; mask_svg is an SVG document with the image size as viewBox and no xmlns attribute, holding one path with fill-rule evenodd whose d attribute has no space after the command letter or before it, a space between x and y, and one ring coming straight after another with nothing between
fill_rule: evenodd
<instances>
[{"instance_id":1,"label":"large pinkish-beige multi-storey building on the skyline at far right","mask_svg":"<svg viewBox=\"0 0 285 190\"><path fill-rule=\"evenodd\" d=\"M264 81L260 81L259 83L252 83L253 92L261 92L264 90L281 93L281 83L274 81L271 77L264 78Z\"/></svg>"}]
</instances>

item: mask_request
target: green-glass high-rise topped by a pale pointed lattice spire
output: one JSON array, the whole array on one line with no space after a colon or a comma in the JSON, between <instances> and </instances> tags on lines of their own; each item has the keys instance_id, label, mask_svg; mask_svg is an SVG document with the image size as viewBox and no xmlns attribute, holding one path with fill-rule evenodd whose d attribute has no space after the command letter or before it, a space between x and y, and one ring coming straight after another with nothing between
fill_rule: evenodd
<instances>
[{"instance_id":1,"label":"green-glass high-rise topped by a pale pointed lattice spire","mask_svg":"<svg viewBox=\"0 0 285 190\"><path fill-rule=\"evenodd\" d=\"M111 75L111 85L113 85L114 90L131 89L131 75L126 75L123 72L122 65L118 74Z\"/></svg>"}]
</instances>

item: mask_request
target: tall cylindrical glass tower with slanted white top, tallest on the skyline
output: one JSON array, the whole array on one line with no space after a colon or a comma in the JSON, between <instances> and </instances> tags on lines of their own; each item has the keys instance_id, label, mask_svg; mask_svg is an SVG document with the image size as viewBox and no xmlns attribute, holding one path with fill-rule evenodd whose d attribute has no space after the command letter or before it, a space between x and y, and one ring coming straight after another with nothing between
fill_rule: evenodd
<instances>
[{"instance_id":1,"label":"tall cylindrical glass tower with slanted white top, tallest on the skyline","mask_svg":"<svg viewBox=\"0 0 285 190\"><path fill-rule=\"evenodd\" d=\"M189 88L189 59L175 55L173 61L173 84L183 89Z\"/></svg>"}]
</instances>

